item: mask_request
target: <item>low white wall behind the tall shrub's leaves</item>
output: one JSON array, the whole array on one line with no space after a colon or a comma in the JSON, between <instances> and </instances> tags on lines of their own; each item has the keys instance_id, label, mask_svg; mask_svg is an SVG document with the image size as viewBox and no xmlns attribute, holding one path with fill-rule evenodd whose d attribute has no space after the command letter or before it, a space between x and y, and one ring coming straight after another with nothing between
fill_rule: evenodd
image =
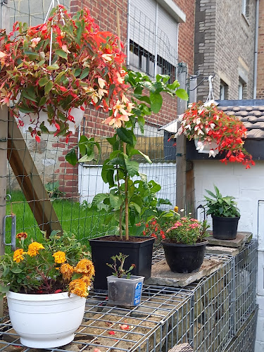
<instances>
[{"instance_id":1,"label":"low white wall behind the tall shrub's leaves","mask_svg":"<svg viewBox=\"0 0 264 352\"><path fill-rule=\"evenodd\" d=\"M101 179L101 165L79 165L79 193L80 202L88 203L97 193L108 191L108 187ZM161 184L158 198L170 199L173 206L176 203L176 164L175 163L153 163L139 164L139 172L147 175L148 181L154 180Z\"/></svg>"}]
</instances>

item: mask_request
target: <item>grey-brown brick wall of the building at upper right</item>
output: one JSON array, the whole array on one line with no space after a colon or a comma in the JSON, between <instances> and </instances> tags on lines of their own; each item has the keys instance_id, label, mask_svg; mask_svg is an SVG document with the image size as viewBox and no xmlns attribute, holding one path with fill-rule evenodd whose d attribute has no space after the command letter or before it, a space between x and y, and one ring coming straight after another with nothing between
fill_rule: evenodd
<instances>
[{"instance_id":1,"label":"grey-brown brick wall of the building at upper right","mask_svg":"<svg viewBox=\"0 0 264 352\"><path fill-rule=\"evenodd\" d=\"M220 80L228 84L227 99L238 99L239 77L246 83L246 99L253 98L255 0L249 0L249 16L241 13L240 0L197 0L194 71L201 77L215 75L215 99ZM208 96L208 81L197 90L198 100Z\"/></svg>"}]
</instances>

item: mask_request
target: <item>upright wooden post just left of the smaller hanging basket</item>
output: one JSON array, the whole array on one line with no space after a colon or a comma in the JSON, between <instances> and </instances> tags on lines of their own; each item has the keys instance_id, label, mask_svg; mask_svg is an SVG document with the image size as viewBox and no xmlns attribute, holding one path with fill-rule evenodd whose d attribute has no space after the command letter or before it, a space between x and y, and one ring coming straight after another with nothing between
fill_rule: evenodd
<instances>
[{"instance_id":1,"label":"upright wooden post just left of the smaller hanging basket","mask_svg":"<svg viewBox=\"0 0 264 352\"><path fill-rule=\"evenodd\" d=\"M180 88L187 89L187 65L178 64L178 81ZM187 101L177 99L177 115L187 109ZM180 122L178 122L178 129ZM179 209L186 209L186 138L183 134L177 137L176 154L176 204Z\"/></svg>"}]
</instances>

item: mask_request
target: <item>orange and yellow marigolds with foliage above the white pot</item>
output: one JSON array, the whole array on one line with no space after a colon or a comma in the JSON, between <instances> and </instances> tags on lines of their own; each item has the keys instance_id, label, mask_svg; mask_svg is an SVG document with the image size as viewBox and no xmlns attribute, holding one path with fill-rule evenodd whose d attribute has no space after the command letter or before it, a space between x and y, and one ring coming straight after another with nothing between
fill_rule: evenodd
<instances>
[{"instance_id":1,"label":"orange and yellow marigolds with foliage above the white pot","mask_svg":"<svg viewBox=\"0 0 264 352\"><path fill-rule=\"evenodd\" d=\"M0 260L0 294L11 290L22 294L68 291L86 297L94 276L94 265L85 246L73 234L54 231L42 242L30 241L26 232L17 234L18 246ZM25 241L26 240L26 241Z\"/></svg>"}]
</instances>

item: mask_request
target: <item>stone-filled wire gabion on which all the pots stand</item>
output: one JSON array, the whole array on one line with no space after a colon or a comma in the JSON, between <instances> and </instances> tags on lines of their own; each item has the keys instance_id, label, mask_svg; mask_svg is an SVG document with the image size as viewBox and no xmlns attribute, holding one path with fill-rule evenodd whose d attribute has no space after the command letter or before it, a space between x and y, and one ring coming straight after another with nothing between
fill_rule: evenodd
<instances>
[{"instance_id":1,"label":"stone-filled wire gabion on which all the pots stand","mask_svg":"<svg viewBox=\"0 0 264 352\"><path fill-rule=\"evenodd\" d=\"M256 327L246 325L256 310L256 249L256 241L251 241L237 257L206 254L207 258L222 260L222 268L182 289L144 285L142 302L137 307L109 305L106 294L92 291L75 340L46 351L94 352L99 348L101 352L167 352L188 342L195 352L231 352L226 348L235 336L240 334L242 338L250 333L253 339L256 332ZM163 249L157 249L153 263L163 259ZM239 294L241 270L249 272L253 280L246 293L243 291L249 296L245 301ZM247 333L243 329L251 330ZM8 317L2 320L0 332L0 351L43 351L21 345Z\"/></svg>"}]
</instances>

